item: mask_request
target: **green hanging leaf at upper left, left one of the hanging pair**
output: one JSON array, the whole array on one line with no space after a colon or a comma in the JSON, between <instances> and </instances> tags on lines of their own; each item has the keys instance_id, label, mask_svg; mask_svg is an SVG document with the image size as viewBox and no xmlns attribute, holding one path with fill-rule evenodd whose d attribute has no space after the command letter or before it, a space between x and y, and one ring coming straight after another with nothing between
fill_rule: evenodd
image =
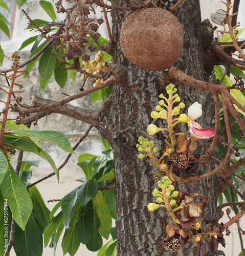
<instances>
[{"instance_id":1,"label":"green hanging leaf at upper left, left one of the hanging pair","mask_svg":"<svg viewBox=\"0 0 245 256\"><path fill-rule=\"evenodd\" d=\"M40 86L43 91L47 88L54 71L56 56L53 55L53 51L53 49L48 48L47 51L42 53L39 60L38 71L40 74Z\"/></svg>"}]
</instances>

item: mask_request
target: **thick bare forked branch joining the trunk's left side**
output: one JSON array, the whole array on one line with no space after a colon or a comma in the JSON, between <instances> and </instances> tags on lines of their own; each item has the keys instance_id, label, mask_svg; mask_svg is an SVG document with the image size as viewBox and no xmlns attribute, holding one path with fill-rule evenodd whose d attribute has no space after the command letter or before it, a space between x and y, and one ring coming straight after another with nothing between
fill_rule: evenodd
<instances>
[{"instance_id":1,"label":"thick bare forked branch joining the trunk's left side","mask_svg":"<svg viewBox=\"0 0 245 256\"><path fill-rule=\"evenodd\" d=\"M53 103L56 103L56 101L35 97L32 100L32 107L41 108L42 106L50 105ZM96 127L96 129L99 128L99 118L96 111L85 110L85 109L79 108L78 106L73 106L69 104L65 104L65 105L54 107L54 108L50 108L45 111L39 111L37 113L33 113L30 116L26 117L23 123L27 125L29 123L36 122L38 119L44 116L50 115L52 113L69 116L77 120L83 121L85 123L92 124L93 126Z\"/></svg>"}]
</instances>

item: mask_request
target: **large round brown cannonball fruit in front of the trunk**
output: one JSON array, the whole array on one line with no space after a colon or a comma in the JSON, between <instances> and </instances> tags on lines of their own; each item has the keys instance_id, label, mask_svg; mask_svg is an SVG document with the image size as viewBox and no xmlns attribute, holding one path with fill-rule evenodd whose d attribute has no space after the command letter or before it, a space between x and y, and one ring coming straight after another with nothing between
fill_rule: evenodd
<instances>
[{"instance_id":1,"label":"large round brown cannonball fruit in front of the trunk","mask_svg":"<svg viewBox=\"0 0 245 256\"><path fill-rule=\"evenodd\" d=\"M184 33L179 19L160 8L129 14L121 28L120 44L133 65L152 71L169 68L183 49Z\"/></svg>"}]
</instances>

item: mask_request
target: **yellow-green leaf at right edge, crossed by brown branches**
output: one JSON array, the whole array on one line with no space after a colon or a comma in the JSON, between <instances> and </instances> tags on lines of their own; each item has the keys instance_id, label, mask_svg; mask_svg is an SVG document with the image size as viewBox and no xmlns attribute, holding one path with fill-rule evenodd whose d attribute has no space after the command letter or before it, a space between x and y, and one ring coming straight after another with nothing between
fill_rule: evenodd
<instances>
[{"instance_id":1,"label":"yellow-green leaf at right edge, crossed by brown branches","mask_svg":"<svg viewBox=\"0 0 245 256\"><path fill-rule=\"evenodd\" d=\"M214 70L216 72L215 78L221 80L222 77L224 76L224 71L222 70L222 68L220 66L214 66ZM232 86L234 84L234 82L230 79L230 77L228 75L225 75L221 84L224 84L226 86ZM242 94L242 92L240 90L232 89L232 90L230 90L230 94L242 106L245 106L245 97L244 97L244 95ZM242 115L245 116L245 113L243 111L241 111L240 109L238 109L235 104L234 104L234 107L237 110L237 112L239 112L239 113L241 113Z\"/></svg>"}]
</instances>

